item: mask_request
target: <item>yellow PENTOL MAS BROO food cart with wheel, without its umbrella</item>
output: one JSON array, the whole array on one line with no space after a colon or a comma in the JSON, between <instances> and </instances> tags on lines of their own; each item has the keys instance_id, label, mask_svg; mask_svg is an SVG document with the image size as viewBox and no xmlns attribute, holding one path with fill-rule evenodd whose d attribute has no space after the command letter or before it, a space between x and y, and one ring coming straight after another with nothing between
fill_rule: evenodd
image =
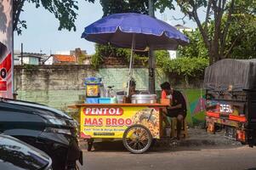
<instances>
[{"instance_id":1,"label":"yellow PENTOL MAS BROO food cart with wheel, without its umbrella","mask_svg":"<svg viewBox=\"0 0 256 170\"><path fill-rule=\"evenodd\" d=\"M132 153L143 153L152 139L161 139L163 104L79 104L80 137L88 139L122 139Z\"/></svg>"}]
</instances>

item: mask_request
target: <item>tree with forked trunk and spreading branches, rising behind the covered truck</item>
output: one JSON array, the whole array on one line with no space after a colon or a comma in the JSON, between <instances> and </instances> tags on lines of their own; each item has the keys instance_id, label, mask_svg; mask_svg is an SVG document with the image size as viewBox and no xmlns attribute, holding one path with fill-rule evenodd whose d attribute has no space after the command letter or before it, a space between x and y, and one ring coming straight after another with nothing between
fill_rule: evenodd
<instances>
[{"instance_id":1,"label":"tree with forked trunk and spreading branches, rising behind the covered truck","mask_svg":"<svg viewBox=\"0 0 256 170\"><path fill-rule=\"evenodd\" d=\"M255 14L254 0L176 0L181 11L191 20L196 21L205 47L208 49L210 64L224 59L229 55L230 50L226 51L227 35L230 31L230 21L232 14L238 11ZM201 21L198 16L200 8L206 8L205 19ZM225 24L222 22L226 17ZM213 35L209 33L209 24L213 21Z\"/></svg>"}]
</instances>

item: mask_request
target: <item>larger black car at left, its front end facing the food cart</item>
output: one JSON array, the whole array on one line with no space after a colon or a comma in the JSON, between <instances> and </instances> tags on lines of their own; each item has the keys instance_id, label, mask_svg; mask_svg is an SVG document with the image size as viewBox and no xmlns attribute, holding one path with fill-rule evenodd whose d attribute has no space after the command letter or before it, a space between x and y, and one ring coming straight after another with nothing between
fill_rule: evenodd
<instances>
[{"instance_id":1,"label":"larger black car at left, its front end facing the food cart","mask_svg":"<svg viewBox=\"0 0 256 170\"><path fill-rule=\"evenodd\" d=\"M53 160L54 170L77 169L82 150L77 142L77 122L46 105L0 99L0 133L43 150Z\"/></svg>"}]
</instances>

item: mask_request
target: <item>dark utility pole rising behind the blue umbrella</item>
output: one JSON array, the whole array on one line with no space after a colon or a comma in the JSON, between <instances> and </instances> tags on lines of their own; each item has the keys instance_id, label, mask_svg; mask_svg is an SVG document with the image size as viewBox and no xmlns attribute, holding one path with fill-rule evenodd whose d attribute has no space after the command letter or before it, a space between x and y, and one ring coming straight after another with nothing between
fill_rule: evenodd
<instances>
[{"instance_id":1,"label":"dark utility pole rising behind the blue umbrella","mask_svg":"<svg viewBox=\"0 0 256 170\"><path fill-rule=\"evenodd\" d=\"M149 0L149 15L155 18L155 9L153 0ZM149 91L156 94L156 57L153 49L149 51Z\"/></svg>"}]
</instances>

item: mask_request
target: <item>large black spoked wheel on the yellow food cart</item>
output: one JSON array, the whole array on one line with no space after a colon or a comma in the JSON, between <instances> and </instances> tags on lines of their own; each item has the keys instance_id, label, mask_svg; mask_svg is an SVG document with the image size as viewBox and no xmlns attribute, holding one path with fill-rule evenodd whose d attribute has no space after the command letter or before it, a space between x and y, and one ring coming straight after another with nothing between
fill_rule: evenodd
<instances>
[{"instance_id":1,"label":"large black spoked wheel on the yellow food cart","mask_svg":"<svg viewBox=\"0 0 256 170\"><path fill-rule=\"evenodd\" d=\"M142 154L151 147L152 135L147 127L132 125L123 133L122 143L130 152Z\"/></svg>"}]
</instances>

